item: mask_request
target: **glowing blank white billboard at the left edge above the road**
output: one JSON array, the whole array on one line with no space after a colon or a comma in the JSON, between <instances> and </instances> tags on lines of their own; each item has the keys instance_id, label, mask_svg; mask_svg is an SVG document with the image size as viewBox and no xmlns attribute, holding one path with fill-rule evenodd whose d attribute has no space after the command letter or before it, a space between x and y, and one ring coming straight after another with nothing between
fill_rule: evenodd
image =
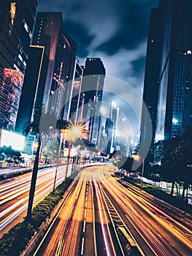
<instances>
[{"instance_id":1,"label":"glowing blank white billboard at the left edge above the road","mask_svg":"<svg viewBox=\"0 0 192 256\"><path fill-rule=\"evenodd\" d=\"M0 147L12 146L13 149L23 151L25 136L15 132L9 132L6 129L1 129Z\"/></svg>"}]
</instances>

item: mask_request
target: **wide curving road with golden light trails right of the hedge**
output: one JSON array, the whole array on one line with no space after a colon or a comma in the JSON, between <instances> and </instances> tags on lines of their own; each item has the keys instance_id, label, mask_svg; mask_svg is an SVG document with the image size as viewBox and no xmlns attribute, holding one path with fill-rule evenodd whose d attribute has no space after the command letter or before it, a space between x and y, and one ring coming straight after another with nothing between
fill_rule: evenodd
<instances>
[{"instance_id":1,"label":"wide curving road with golden light trails right of the hedge","mask_svg":"<svg viewBox=\"0 0 192 256\"><path fill-rule=\"evenodd\" d=\"M192 222L167 204L86 167L34 255L192 255Z\"/></svg>"}]
</instances>

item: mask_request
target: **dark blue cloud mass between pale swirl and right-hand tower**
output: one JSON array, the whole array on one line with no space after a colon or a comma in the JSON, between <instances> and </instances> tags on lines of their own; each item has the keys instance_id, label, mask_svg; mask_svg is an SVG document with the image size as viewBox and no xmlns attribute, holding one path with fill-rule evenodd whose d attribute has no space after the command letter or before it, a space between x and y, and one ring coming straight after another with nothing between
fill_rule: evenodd
<instances>
[{"instance_id":1,"label":"dark blue cloud mass between pale swirl and right-hand tower","mask_svg":"<svg viewBox=\"0 0 192 256\"><path fill-rule=\"evenodd\" d=\"M113 55L122 48L137 48L147 37L150 10L155 3L157 0L120 1L117 7L120 29L107 42L99 45L97 50Z\"/></svg>"}]
</instances>

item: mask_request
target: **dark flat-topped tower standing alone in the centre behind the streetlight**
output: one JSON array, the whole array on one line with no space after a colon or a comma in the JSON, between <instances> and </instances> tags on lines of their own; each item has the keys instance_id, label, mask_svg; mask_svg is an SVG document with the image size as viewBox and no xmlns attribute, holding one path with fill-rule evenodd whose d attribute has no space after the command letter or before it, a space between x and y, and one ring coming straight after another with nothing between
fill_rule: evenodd
<instances>
[{"instance_id":1,"label":"dark flat-topped tower standing alone in the centre behind the streetlight","mask_svg":"<svg viewBox=\"0 0 192 256\"><path fill-rule=\"evenodd\" d=\"M91 108L89 120L89 141L97 145L100 122L100 107L104 88L105 68L101 59L88 58L85 60L82 78L82 93L85 94L83 118L86 118Z\"/></svg>"}]
</instances>

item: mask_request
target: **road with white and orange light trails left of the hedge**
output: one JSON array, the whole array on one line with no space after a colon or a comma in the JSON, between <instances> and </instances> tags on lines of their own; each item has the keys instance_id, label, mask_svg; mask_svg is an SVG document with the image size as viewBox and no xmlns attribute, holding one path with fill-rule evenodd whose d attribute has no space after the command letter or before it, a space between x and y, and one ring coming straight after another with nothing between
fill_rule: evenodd
<instances>
[{"instance_id":1,"label":"road with white and orange light trails left of the hedge","mask_svg":"<svg viewBox=\"0 0 192 256\"><path fill-rule=\"evenodd\" d=\"M34 206L52 191L55 168L48 167L38 171ZM56 185L64 181L64 173L65 165L58 166ZM30 184L31 173L0 181L0 237L26 216Z\"/></svg>"}]
</instances>

